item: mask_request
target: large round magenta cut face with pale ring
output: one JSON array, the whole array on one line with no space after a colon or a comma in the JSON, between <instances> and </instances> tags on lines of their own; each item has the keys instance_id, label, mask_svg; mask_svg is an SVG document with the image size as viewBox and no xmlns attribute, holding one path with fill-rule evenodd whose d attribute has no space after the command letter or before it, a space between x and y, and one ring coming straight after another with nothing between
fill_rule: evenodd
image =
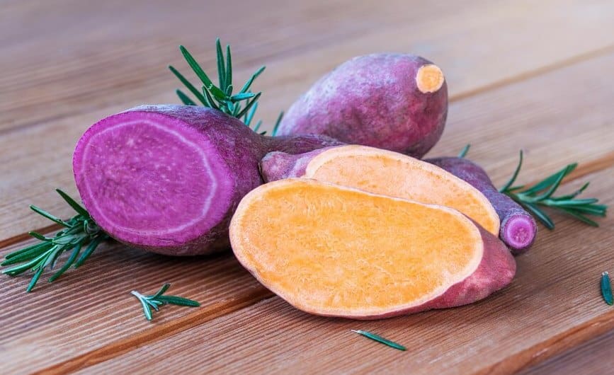
<instances>
[{"instance_id":1,"label":"large round magenta cut face with pale ring","mask_svg":"<svg viewBox=\"0 0 614 375\"><path fill-rule=\"evenodd\" d=\"M77 144L74 175L86 209L134 246L183 246L227 211L227 166L195 127L132 111L93 125ZM215 201L214 201L215 198Z\"/></svg>"}]
</instances>

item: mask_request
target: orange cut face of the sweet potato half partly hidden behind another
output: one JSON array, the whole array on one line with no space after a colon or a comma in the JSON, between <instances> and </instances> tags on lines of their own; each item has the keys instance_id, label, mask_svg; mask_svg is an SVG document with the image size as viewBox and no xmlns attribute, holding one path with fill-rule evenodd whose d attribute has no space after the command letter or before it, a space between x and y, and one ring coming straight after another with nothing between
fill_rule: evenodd
<instances>
[{"instance_id":1,"label":"orange cut face of the sweet potato half partly hidden behind another","mask_svg":"<svg viewBox=\"0 0 614 375\"><path fill-rule=\"evenodd\" d=\"M305 177L452 207L499 235L499 216L482 192L437 166L409 156L366 146L336 147L313 158Z\"/></svg>"}]
</instances>

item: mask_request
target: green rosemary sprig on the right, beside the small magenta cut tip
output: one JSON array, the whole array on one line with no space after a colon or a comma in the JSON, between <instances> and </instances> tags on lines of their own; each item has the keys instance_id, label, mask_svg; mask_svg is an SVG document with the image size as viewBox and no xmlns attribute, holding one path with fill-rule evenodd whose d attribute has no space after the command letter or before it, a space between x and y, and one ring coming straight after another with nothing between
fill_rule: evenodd
<instances>
[{"instance_id":1,"label":"green rosemary sprig on the right, beside the small magenta cut tip","mask_svg":"<svg viewBox=\"0 0 614 375\"><path fill-rule=\"evenodd\" d=\"M596 198L576 199L578 195L589 187L589 183L582 185L581 188L571 194L559 197L554 195L562 180L578 166L577 163L565 166L557 173L548 176L530 188L525 188L524 185L513 186L521 171L522 164L523 151L520 152L520 161L518 161L516 171L514 171L510 180L499 189L500 192L521 204L528 212L541 221L547 229L555 229L555 223L541 207L555 209L591 226L599 226L596 221L589 219L588 216L605 217L608 207L605 204L598 204L599 200Z\"/></svg>"}]
</instances>

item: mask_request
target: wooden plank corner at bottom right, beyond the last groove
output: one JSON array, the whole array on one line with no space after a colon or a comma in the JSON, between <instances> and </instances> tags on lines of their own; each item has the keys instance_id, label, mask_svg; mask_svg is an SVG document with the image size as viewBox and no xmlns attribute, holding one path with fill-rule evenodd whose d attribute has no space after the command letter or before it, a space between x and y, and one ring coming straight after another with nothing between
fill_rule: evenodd
<instances>
[{"instance_id":1,"label":"wooden plank corner at bottom right, beyond the last groove","mask_svg":"<svg viewBox=\"0 0 614 375\"><path fill-rule=\"evenodd\" d=\"M596 337L541 364L521 371L521 375L609 374L614 357L614 331Z\"/></svg>"}]
</instances>

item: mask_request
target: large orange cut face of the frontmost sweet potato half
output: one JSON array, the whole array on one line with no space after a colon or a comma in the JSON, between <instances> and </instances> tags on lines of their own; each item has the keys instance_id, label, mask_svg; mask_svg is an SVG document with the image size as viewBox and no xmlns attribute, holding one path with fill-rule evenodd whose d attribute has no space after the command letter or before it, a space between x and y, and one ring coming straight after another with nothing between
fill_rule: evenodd
<instances>
[{"instance_id":1,"label":"large orange cut face of the frontmost sweet potato half","mask_svg":"<svg viewBox=\"0 0 614 375\"><path fill-rule=\"evenodd\" d=\"M477 227L453 209L302 179L250 192L230 238L290 304L347 317L419 306L471 275L483 252Z\"/></svg>"}]
</instances>

